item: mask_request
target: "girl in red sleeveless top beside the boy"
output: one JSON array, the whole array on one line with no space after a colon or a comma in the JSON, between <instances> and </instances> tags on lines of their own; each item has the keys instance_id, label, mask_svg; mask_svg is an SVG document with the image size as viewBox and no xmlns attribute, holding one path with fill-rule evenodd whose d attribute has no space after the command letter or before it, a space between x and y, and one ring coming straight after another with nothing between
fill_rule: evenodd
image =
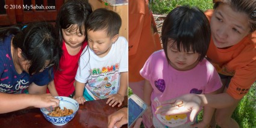
<instances>
[{"instance_id":1,"label":"girl in red sleeveless top beside the boy","mask_svg":"<svg viewBox=\"0 0 256 128\"><path fill-rule=\"evenodd\" d=\"M48 93L52 96L75 95L73 83L78 69L78 59L87 46L85 25L90 13L92 7L83 0L67 1L58 12L56 28L58 43L63 51L60 66L58 70L54 70L54 81L48 85Z\"/></svg>"}]
</instances>

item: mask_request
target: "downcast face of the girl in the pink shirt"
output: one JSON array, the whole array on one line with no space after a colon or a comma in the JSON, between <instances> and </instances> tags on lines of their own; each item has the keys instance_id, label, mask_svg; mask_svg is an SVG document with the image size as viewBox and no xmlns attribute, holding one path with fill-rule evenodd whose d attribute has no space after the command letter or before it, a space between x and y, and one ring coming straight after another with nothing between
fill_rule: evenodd
<instances>
[{"instance_id":1,"label":"downcast face of the girl in the pink shirt","mask_svg":"<svg viewBox=\"0 0 256 128\"><path fill-rule=\"evenodd\" d=\"M174 69L181 71L193 69L199 62L198 53L193 53L192 49L190 49L190 51L183 51L183 48L181 48L181 52L179 52L176 44L173 44L171 40L168 42L167 56L170 59L170 65Z\"/></svg>"}]
</instances>

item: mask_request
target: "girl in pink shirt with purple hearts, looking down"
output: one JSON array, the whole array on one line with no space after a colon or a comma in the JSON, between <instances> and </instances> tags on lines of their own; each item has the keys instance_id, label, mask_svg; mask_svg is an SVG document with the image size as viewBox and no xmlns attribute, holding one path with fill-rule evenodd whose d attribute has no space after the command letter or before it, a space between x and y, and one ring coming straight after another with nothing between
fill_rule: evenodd
<instances>
[{"instance_id":1,"label":"girl in pink shirt with purple hearts, looking down","mask_svg":"<svg viewBox=\"0 0 256 128\"><path fill-rule=\"evenodd\" d=\"M170 11L162 27L163 50L149 56L140 75L146 79L144 100L148 120L155 127L191 127L190 113L155 114L161 102L183 94L214 94L222 86L219 75L205 59L210 43L210 24L195 7L177 7ZM214 109L204 108L197 127L207 127Z\"/></svg>"}]
</instances>

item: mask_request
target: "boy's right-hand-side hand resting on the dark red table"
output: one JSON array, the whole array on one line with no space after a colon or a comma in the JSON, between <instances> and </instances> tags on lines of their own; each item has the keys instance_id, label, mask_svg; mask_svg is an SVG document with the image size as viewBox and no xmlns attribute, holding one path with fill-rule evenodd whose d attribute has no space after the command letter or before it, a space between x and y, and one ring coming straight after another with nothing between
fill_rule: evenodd
<instances>
[{"instance_id":1,"label":"boy's right-hand-side hand resting on the dark red table","mask_svg":"<svg viewBox=\"0 0 256 128\"><path fill-rule=\"evenodd\" d=\"M120 107L122 105L124 99L125 99L125 97L120 94L113 94L113 95L108 96L107 104L109 103L108 105L114 107L117 105L117 103L119 103L118 107Z\"/></svg>"}]
</instances>

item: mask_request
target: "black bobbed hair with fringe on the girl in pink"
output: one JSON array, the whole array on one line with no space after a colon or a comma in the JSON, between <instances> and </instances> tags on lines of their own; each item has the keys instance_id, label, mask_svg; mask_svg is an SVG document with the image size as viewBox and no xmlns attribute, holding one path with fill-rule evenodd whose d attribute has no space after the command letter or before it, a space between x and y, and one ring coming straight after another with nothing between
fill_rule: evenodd
<instances>
[{"instance_id":1,"label":"black bobbed hair with fringe on the girl in pink","mask_svg":"<svg viewBox=\"0 0 256 128\"><path fill-rule=\"evenodd\" d=\"M205 14L196 7L176 7L167 14L163 22L161 40L166 56L169 40L172 40L179 52L182 48L184 51L191 48L193 53L199 53L199 61L202 61L207 53L210 38L210 23ZM170 64L170 59L166 58Z\"/></svg>"}]
</instances>

